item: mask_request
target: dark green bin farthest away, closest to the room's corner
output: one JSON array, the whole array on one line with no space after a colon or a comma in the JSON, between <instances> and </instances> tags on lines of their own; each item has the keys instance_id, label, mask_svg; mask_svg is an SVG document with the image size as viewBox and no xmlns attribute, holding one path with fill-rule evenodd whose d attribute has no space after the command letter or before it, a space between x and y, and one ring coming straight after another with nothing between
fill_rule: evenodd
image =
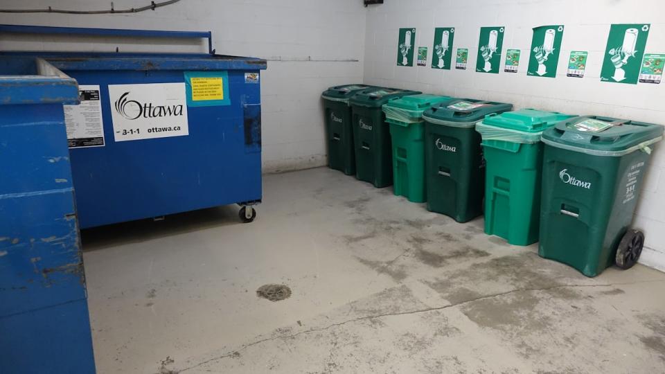
<instances>
[{"instance_id":1,"label":"dark green bin farthest away, closest to the room's corner","mask_svg":"<svg viewBox=\"0 0 665 374\"><path fill-rule=\"evenodd\" d=\"M371 86L366 84L345 84L330 87L321 94L328 143L328 167L341 170L346 175L355 175L353 127L348 99L358 91L369 88Z\"/></svg>"}]
</instances>

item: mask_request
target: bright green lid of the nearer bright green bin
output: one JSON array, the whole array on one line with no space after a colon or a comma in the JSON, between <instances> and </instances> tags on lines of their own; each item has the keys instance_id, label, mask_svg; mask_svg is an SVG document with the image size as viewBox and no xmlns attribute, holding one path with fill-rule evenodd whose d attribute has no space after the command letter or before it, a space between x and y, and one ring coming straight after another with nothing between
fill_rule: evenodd
<instances>
[{"instance_id":1,"label":"bright green lid of the nearer bright green bin","mask_svg":"<svg viewBox=\"0 0 665 374\"><path fill-rule=\"evenodd\" d=\"M483 125L520 132L542 132L548 127L571 117L574 116L557 112L543 112L536 109L520 109L502 114L489 114L484 118Z\"/></svg>"}]
</instances>

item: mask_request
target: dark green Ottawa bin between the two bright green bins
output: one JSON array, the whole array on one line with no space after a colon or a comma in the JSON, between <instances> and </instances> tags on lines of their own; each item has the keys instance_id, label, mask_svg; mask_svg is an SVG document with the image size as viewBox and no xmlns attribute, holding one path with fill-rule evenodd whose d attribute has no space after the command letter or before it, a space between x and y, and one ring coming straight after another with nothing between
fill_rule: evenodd
<instances>
[{"instance_id":1,"label":"dark green Ottawa bin between the two bright green bins","mask_svg":"<svg viewBox=\"0 0 665 374\"><path fill-rule=\"evenodd\" d=\"M485 162L475 125L488 114L512 108L505 103L452 99L423 114L428 211L457 222L483 213Z\"/></svg>"}]
</instances>

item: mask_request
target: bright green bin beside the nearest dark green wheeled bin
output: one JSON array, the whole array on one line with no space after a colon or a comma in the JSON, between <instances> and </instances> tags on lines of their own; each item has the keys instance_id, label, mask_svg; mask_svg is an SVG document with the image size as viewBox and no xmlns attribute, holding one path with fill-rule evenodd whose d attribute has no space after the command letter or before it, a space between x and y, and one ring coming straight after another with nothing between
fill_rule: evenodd
<instances>
[{"instance_id":1,"label":"bright green bin beside the nearest dark green wheeled bin","mask_svg":"<svg viewBox=\"0 0 665 374\"><path fill-rule=\"evenodd\" d=\"M569 116L535 109L477 123L486 165L485 233L515 245L538 241L543 145L540 134Z\"/></svg>"}]
</instances>

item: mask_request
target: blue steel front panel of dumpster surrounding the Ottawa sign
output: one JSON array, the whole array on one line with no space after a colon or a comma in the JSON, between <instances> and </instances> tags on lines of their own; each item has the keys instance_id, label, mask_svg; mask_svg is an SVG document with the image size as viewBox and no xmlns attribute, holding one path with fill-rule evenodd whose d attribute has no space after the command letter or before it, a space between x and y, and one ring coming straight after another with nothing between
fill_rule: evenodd
<instances>
[{"instance_id":1,"label":"blue steel front panel of dumpster surrounding the Ottawa sign","mask_svg":"<svg viewBox=\"0 0 665 374\"><path fill-rule=\"evenodd\" d=\"M244 109L260 107L260 90L245 71L228 72L231 105L188 107L188 136L118 143L108 85L184 82L183 71L64 72L100 85L107 141L70 150L82 228L261 199L260 145L245 143Z\"/></svg>"}]
</instances>

